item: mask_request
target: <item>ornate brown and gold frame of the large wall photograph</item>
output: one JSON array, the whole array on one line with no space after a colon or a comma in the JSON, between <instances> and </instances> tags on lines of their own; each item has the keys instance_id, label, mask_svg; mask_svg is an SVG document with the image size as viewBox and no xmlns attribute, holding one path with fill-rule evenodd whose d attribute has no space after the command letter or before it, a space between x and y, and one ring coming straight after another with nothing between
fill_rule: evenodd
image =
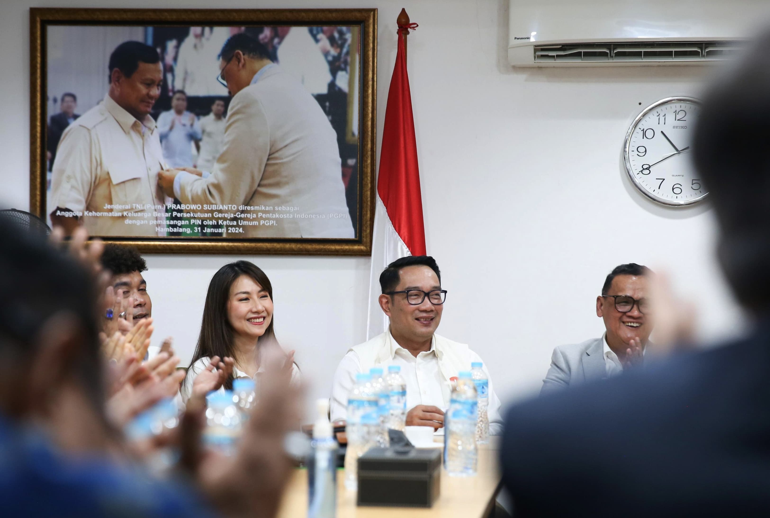
<instances>
[{"instance_id":1,"label":"ornate brown and gold frame of the large wall photograph","mask_svg":"<svg viewBox=\"0 0 770 518\"><path fill-rule=\"evenodd\" d=\"M318 256L369 256L372 248L376 168L376 95L377 95L377 9L112 9L112 8L31 8L30 9L30 212L45 219L49 216L49 29L52 27L122 27L122 28L287 28L313 30L344 29L352 35L359 52L350 56L348 75L337 76L336 84L345 92L344 116L335 129L340 148L348 146L348 158L341 155L346 204L350 210L353 239L317 237L247 237L233 236L95 236L105 242L136 246L141 252L186 254L271 254ZM59 29L60 30L60 29ZM67 29L69 30L69 29ZM174 29L176 30L176 29ZM344 31L343 31L344 32ZM152 34L152 32L151 32ZM192 32L190 32L192 34ZM306 37L306 35L305 35ZM355 41L357 40L357 42ZM353 47L351 43L350 47ZM163 58L161 58L163 59ZM208 63L207 63L208 65ZM165 66L165 65L164 65ZM101 73L101 72L99 72ZM106 70L93 81L107 79ZM357 77L357 80L355 79ZM102 82L105 84L105 82ZM348 85L348 86L345 86ZM350 95L350 88L358 89ZM53 86L52 88L56 88ZM333 85L330 83L330 92ZM357 96L357 131L353 118ZM192 95L191 95L192 97ZM340 95L340 99L342 96ZM54 98L55 99L55 98ZM318 100L318 99L316 99ZM319 101L320 102L320 101ZM327 103L328 104L328 103ZM340 104L342 102L340 101ZM93 104L92 104L93 105ZM323 107L323 106L322 106ZM331 116L330 116L330 120ZM71 122L70 122L71 123ZM355 149L353 149L353 146ZM52 160L53 162L53 160ZM55 162L54 162L55 163ZM354 164L354 165L351 165ZM353 171L354 175L350 173ZM354 176L354 178L353 178ZM350 182L354 182L351 184ZM351 192L355 191L354 194ZM353 201L351 201L353 200ZM355 206L355 212L351 207ZM353 216L355 214L355 216ZM157 223L157 222L156 222ZM207 229L208 230L208 229ZM202 232L203 233L203 232Z\"/></svg>"}]
</instances>

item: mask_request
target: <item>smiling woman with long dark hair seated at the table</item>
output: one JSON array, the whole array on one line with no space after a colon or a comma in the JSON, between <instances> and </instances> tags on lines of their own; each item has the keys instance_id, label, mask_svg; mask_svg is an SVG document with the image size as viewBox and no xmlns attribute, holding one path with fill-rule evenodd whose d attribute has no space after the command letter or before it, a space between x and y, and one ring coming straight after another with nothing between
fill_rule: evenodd
<instances>
[{"instance_id":1,"label":"smiling woman with long dark hair seated at the table","mask_svg":"<svg viewBox=\"0 0 770 518\"><path fill-rule=\"evenodd\" d=\"M180 390L183 401L189 399L193 380L214 356L235 360L233 373L223 383L225 389L233 388L235 378L254 378L267 369L289 365L292 383L299 381L293 352L283 352L273 331L273 285L251 262L230 262L209 282L198 345Z\"/></svg>"}]
</instances>

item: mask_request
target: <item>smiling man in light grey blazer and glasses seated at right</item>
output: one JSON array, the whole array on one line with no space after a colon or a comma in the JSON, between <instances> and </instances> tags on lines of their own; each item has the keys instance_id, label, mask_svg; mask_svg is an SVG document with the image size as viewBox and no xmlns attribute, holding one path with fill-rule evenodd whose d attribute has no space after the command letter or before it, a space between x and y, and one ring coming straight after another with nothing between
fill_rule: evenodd
<instances>
[{"instance_id":1,"label":"smiling man in light grey blazer and glasses seated at right","mask_svg":"<svg viewBox=\"0 0 770 518\"><path fill-rule=\"evenodd\" d=\"M541 394L618 376L644 362L644 348L653 327L648 299L651 274L646 266L634 262L610 272L596 298L596 316L604 319L604 335L557 346Z\"/></svg>"}]
</instances>

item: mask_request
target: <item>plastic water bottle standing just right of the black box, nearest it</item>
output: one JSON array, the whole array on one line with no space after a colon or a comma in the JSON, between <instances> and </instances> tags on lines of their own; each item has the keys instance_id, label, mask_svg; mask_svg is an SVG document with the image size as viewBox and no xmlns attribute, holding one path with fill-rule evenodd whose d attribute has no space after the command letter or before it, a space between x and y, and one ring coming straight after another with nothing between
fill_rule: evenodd
<instances>
[{"instance_id":1,"label":"plastic water bottle standing just right of the black box, nearest it","mask_svg":"<svg viewBox=\"0 0 770 518\"><path fill-rule=\"evenodd\" d=\"M457 375L446 414L444 435L444 467L449 476L475 476L477 465L476 423L477 396L469 371Z\"/></svg>"}]
</instances>

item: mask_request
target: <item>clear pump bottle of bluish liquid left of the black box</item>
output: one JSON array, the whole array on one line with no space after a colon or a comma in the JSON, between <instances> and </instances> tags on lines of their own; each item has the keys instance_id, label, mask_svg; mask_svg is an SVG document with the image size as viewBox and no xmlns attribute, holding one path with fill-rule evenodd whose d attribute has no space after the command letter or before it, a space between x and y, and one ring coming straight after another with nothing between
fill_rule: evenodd
<instances>
[{"instance_id":1,"label":"clear pump bottle of bluish liquid left of the black box","mask_svg":"<svg viewBox=\"0 0 770 518\"><path fill-rule=\"evenodd\" d=\"M318 416L307 459L308 518L334 518L336 514L337 444L329 422L329 399L316 401Z\"/></svg>"}]
</instances>

